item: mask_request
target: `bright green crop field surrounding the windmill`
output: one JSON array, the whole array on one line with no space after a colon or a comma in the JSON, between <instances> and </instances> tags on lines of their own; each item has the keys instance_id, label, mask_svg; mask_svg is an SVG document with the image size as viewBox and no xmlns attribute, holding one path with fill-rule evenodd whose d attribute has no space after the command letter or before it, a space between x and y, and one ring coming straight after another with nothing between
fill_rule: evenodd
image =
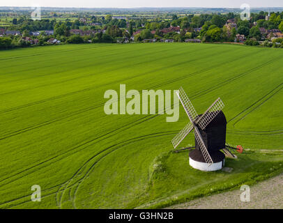
<instances>
[{"instance_id":1,"label":"bright green crop field surrounding the windmill","mask_svg":"<svg viewBox=\"0 0 283 223\"><path fill-rule=\"evenodd\" d=\"M0 52L0 208L162 208L283 171L282 49L59 45ZM200 114L226 105L234 171L192 169L171 139L188 123L110 115L105 91L183 86ZM181 146L194 144L193 134ZM262 150L267 152L262 153ZM269 152L268 152L269 151ZM40 185L41 202L31 201Z\"/></svg>"}]
</instances>

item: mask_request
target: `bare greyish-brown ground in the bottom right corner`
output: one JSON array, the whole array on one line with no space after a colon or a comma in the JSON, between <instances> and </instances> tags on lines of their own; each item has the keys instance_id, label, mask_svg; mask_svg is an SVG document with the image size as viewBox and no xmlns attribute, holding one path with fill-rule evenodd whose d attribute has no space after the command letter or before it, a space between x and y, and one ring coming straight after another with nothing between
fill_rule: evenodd
<instances>
[{"instance_id":1,"label":"bare greyish-brown ground in the bottom right corner","mask_svg":"<svg viewBox=\"0 0 283 223\"><path fill-rule=\"evenodd\" d=\"M204 208L283 208L283 174L270 178L250 187L250 202L240 201L243 191L234 190L215 194L210 197L181 203L169 208L204 209Z\"/></svg>"}]
</instances>

